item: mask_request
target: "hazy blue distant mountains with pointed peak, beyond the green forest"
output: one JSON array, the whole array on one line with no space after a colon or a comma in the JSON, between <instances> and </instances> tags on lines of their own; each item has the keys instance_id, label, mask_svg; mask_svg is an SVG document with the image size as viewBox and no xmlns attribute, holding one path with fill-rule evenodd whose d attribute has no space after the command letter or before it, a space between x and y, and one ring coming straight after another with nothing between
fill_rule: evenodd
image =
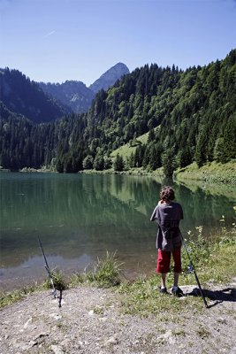
<instances>
[{"instance_id":1,"label":"hazy blue distant mountains with pointed peak, beyond the green forest","mask_svg":"<svg viewBox=\"0 0 236 354\"><path fill-rule=\"evenodd\" d=\"M6 67L0 69L0 102L9 112L34 123L49 122L68 113L87 112L97 90L108 89L126 73L129 73L127 66L118 63L88 88L82 81L62 84L31 81L19 70Z\"/></svg>"}]
</instances>

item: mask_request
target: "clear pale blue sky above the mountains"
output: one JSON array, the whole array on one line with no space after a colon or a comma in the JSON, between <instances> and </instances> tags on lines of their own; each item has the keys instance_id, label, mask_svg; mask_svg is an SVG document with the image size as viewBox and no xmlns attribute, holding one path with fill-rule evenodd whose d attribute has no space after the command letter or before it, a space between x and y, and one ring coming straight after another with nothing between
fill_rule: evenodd
<instances>
[{"instance_id":1,"label":"clear pale blue sky above the mountains","mask_svg":"<svg viewBox=\"0 0 236 354\"><path fill-rule=\"evenodd\" d=\"M207 65L236 48L236 0L0 0L0 67L87 86L118 62Z\"/></svg>"}]
</instances>

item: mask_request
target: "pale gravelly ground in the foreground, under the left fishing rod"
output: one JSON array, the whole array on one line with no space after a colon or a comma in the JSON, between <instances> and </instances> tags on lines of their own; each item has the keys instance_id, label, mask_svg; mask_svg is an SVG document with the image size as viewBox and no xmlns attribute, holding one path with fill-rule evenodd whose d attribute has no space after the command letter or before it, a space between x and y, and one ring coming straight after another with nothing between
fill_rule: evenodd
<instances>
[{"instance_id":1,"label":"pale gravelly ground in the foreground, under the left fishing rod","mask_svg":"<svg viewBox=\"0 0 236 354\"><path fill-rule=\"evenodd\" d=\"M65 290L61 308L49 291L34 293L1 311L0 353L236 353L235 286L210 289L201 316L164 321L122 313L122 295L110 289Z\"/></svg>"}]
</instances>

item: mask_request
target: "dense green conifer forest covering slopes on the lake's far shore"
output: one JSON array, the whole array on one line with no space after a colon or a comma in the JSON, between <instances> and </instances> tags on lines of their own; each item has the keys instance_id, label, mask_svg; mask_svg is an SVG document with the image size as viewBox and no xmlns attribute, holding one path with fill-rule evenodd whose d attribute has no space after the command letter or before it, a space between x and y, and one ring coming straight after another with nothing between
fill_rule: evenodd
<instances>
[{"instance_id":1,"label":"dense green conifer forest covering slopes on the lake's far shore","mask_svg":"<svg viewBox=\"0 0 236 354\"><path fill-rule=\"evenodd\" d=\"M56 164L58 172L109 168L110 152L137 146L115 169L178 166L196 161L225 163L236 153L236 50L206 66L145 65L101 90L89 111L34 125L1 112L0 165L5 168ZM138 143L148 133L147 143ZM26 146L30 146L27 149Z\"/></svg>"}]
</instances>

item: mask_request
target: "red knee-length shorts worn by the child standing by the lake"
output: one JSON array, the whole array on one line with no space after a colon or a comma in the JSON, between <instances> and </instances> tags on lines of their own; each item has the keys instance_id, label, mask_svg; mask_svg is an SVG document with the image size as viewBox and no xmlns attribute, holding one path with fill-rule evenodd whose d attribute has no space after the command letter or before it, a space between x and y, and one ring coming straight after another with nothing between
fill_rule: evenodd
<instances>
[{"instance_id":1,"label":"red knee-length shorts worn by the child standing by the lake","mask_svg":"<svg viewBox=\"0 0 236 354\"><path fill-rule=\"evenodd\" d=\"M174 261L174 272L180 273L181 269L181 247L176 250L166 251L158 250L157 252L157 265L156 273L168 273L170 272L171 265L171 253Z\"/></svg>"}]
</instances>

